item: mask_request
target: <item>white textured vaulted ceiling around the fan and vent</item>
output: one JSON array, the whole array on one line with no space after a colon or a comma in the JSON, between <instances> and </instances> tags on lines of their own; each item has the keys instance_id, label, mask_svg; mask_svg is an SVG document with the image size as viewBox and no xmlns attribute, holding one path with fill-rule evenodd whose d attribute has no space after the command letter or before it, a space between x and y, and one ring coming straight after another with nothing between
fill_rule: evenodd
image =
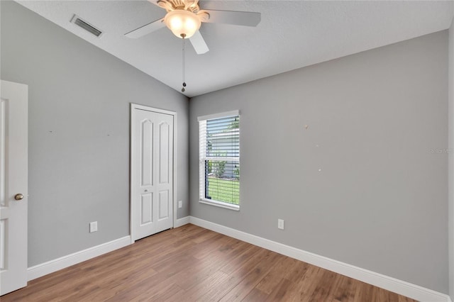
<instances>
[{"instance_id":1,"label":"white textured vaulted ceiling around the fan and vent","mask_svg":"<svg viewBox=\"0 0 454 302\"><path fill-rule=\"evenodd\" d=\"M148 1L18 1L180 91L182 40L162 28L137 40L125 33L165 16ZM203 1L201 9L256 11L256 28L202 23L209 52L187 43L187 96L332 60L449 28L453 1ZM104 31L101 38L72 16ZM189 42L189 41L188 41Z\"/></svg>"}]
</instances>

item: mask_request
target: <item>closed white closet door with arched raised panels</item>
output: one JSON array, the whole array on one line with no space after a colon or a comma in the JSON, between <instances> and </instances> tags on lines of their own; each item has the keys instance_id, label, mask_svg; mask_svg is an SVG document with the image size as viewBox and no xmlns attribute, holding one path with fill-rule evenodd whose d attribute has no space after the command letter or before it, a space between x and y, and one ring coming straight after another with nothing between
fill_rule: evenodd
<instances>
[{"instance_id":1,"label":"closed white closet door with arched raised panels","mask_svg":"<svg viewBox=\"0 0 454 302\"><path fill-rule=\"evenodd\" d=\"M131 106L132 239L173 226L172 114Z\"/></svg>"}]
</instances>

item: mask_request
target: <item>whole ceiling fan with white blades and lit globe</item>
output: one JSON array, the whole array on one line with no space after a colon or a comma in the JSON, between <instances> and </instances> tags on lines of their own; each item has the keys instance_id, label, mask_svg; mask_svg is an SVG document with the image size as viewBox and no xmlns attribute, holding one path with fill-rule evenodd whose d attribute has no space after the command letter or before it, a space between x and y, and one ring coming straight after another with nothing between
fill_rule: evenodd
<instances>
[{"instance_id":1,"label":"whole ceiling fan with white blades and lit globe","mask_svg":"<svg viewBox=\"0 0 454 302\"><path fill-rule=\"evenodd\" d=\"M199 0L148 0L167 11L164 18L140 26L126 33L128 38L140 38L167 26L178 38L189 38L197 54L209 48L199 32L201 22L224 23L239 26L257 26L260 13L248 11L214 11L199 8Z\"/></svg>"}]
</instances>

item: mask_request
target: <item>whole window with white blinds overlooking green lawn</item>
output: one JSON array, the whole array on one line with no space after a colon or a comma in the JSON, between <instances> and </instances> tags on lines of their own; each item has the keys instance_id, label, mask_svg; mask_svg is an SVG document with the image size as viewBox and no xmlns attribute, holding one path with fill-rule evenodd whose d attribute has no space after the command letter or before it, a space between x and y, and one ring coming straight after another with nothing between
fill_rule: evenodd
<instances>
[{"instance_id":1,"label":"whole window with white blinds overlooking green lawn","mask_svg":"<svg viewBox=\"0 0 454 302\"><path fill-rule=\"evenodd\" d=\"M239 210L239 112L201 116L198 120L200 202Z\"/></svg>"}]
</instances>

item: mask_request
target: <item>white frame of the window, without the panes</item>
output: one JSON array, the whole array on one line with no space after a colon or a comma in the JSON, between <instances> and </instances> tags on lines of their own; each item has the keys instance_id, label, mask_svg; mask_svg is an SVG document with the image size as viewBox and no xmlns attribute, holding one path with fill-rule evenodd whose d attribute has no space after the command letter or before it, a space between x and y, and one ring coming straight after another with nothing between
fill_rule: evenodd
<instances>
[{"instance_id":1,"label":"white frame of the window, without the panes","mask_svg":"<svg viewBox=\"0 0 454 302\"><path fill-rule=\"evenodd\" d=\"M240 164L240 153L238 157L207 157L206 156L206 134L201 134L201 122L214 120L217 118L228 118L232 116L238 116L240 118L240 111L228 111L223 113L210 114L208 116L199 116L197 121L199 122L199 203L208 204L211 206L218 206L220 208L227 208L233 211L240 211L240 199L238 196L238 204L228 203L226 201L216 201L214 199L205 198L206 187L206 173L205 173L205 162L206 160L222 160L238 162ZM240 127L238 127L238 152L240 150ZM240 181L240 179L238 179Z\"/></svg>"}]
</instances>

